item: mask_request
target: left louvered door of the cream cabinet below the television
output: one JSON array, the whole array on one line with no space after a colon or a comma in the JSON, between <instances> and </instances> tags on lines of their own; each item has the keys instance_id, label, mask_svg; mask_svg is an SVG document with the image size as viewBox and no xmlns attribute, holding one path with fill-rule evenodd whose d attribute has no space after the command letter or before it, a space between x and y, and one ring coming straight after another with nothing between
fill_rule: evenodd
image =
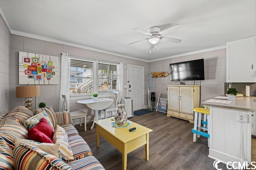
<instances>
[{"instance_id":1,"label":"left louvered door of the cream cabinet below the television","mask_svg":"<svg viewBox=\"0 0 256 170\"><path fill-rule=\"evenodd\" d=\"M179 111L179 89L178 86L168 87L168 109Z\"/></svg>"}]
</instances>

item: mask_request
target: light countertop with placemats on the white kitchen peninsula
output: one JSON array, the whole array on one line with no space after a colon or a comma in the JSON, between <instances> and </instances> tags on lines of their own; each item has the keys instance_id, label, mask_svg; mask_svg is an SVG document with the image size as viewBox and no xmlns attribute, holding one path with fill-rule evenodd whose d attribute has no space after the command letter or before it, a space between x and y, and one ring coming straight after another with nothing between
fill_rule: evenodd
<instances>
[{"instance_id":1,"label":"light countertop with placemats on the white kitchen peninsula","mask_svg":"<svg viewBox=\"0 0 256 170\"><path fill-rule=\"evenodd\" d=\"M227 100L227 99L219 99L219 100ZM212 107L221 107L226 109L242 110L242 111L255 111L254 100L256 100L255 97L236 97L236 100L232 101L230 104L202 102L202 105L208 105Z\"/></svg>"}]
</instances>

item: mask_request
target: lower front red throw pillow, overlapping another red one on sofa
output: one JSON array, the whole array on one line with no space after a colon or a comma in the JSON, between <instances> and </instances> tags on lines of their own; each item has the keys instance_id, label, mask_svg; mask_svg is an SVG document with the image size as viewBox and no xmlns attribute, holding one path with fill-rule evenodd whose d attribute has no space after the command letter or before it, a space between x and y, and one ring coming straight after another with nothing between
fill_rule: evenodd
<instances>
[{"instance_id":1,"label":"lower front red throw pillow, overlapping another red one on sofa","mask_svg":"<svg viewBox=\"0 0 256 170\"><path fill-rule=\"evenodd\" d=\"M34 129L34 127L32 129L28 129L28 139L41 143L53 143L48 136L37 129Z\"/></svg>"}]
</instances>

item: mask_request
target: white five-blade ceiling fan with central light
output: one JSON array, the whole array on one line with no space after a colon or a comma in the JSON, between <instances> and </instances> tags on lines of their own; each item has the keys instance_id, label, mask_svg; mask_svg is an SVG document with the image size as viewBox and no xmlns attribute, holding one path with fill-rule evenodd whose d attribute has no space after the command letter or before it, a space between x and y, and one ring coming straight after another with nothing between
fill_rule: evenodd
<instances>
[{"instance_id":1,"label":"white five-blade ceiling fan with central light","mask_svg":"<svg viewBox=\"0 0 256 170\"><path fill-rule=\"evenodd\" d=\"M182 28L182 26L179 25L179 24L176 24L176 25L174 25L172 27L169 27L167 29L164 29L164 30L161 30L160 27L154 26L154 27L148 28L147 32L142 30L142 29L139 29L139 28L134 28L133 29L134 31L137 31L139 33L143 33L143 34L148 35L150 37L140 39L138 41L134 41L134 42L129 43L127 45L132 45L132 44L138 43L140 41L148 40L149 43L150 43L150 49L153 49L154 45L157 44L160 40L169 41L171 43L180 43L181 42L180 39L175 39L175 38L163 37L162 36L162 35L168 34L170 32L177 31L180 28Z\"/></svg>"}]
</instances>

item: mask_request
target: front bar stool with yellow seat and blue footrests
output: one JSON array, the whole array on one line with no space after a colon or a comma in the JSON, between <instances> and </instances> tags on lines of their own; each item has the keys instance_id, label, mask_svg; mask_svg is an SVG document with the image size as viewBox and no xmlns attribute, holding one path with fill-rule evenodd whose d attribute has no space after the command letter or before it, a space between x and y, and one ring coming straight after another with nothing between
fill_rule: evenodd
<instances>
[{"instance_id":1,"label":"front bar stool with yellow seat and blue footrests","mask_svg":"<svg viewBox=\"0 0 256 170\"><path fill-rule=\"evenodd\" d=\"M194 119L194 128L192 129L192 133L194 133L193 135L193 142L196 142L196 138L200 138L200 136L204 136L208 138L208 147L209 147L209 138L210 138L210 134L209 134L209 126L207 127L202 127L202 123L208 125L208 120L210 118L210 109L206 109L206 108L201 108L201 107L196 107L193 109L193 111L195 112L195 119ZM206 121L202 121L202 114L206 115ZM202 132L201 131L207 131L206 132Z\"/></svg>"}]
</instances>

